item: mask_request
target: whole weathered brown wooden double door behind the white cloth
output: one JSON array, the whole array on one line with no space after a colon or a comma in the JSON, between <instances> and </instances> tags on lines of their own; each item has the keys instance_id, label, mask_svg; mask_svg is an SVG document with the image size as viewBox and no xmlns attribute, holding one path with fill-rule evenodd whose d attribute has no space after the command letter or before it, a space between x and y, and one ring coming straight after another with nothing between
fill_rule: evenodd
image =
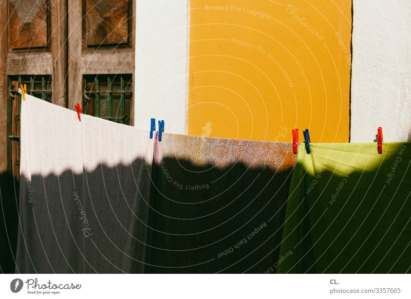
<instances>
[{"instance_id":1,"label":"whole weathered brown wooden double door behind the white cloth","mask_svg":"<svg viewBox=\"0 0 411 299\"><path fill-rule=\"evenodd\" d=\"M0 171L18 177L20 97L133 123L135 0L0 3Z\"/></svg>"}]
</instances>

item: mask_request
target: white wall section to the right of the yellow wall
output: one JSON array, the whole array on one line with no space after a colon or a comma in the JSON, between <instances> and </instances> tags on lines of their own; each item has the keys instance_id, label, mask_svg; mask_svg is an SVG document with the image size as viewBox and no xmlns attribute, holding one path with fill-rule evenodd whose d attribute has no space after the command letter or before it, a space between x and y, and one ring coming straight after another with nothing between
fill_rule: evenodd
<instances>
[{"instance_id":1,"label":"white wall section to the right of the yellow wall","mask_svg":"<svg viewBox=\"0 0 411 299\"><path fill-rule=\"evenodd\" d=\"M351 142L406 141L411 131L411 2L354 0Z\"/></svg>"}]
</instances>

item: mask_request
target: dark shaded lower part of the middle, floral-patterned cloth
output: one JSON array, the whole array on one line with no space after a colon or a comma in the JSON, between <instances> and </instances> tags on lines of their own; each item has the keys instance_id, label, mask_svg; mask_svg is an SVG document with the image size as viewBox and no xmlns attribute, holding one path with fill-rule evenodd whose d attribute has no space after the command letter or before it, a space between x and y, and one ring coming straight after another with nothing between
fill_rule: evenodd
<instances>
[{"instance_id":1,"label":"dark shaded lower part of the middle, floral-patterned cloth","mask_svg":"<svg viewBox=\"0 0 411 299\"><path fill-rule=\"evenodd\" d=\"M264 273L277 262L291 169L170 158L153 168L146 272Z\"/></svg>"}]
</instances>

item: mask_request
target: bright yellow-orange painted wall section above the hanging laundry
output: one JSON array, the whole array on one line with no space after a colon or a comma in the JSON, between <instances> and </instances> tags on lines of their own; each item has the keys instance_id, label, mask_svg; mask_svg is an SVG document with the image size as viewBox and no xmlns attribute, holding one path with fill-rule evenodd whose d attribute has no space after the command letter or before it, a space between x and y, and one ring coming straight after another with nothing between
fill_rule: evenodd
<instances>
[{"instance_id":1,"label":"bright yellow-orange painted wall section above the hanging laundry","mask_svg":"<svg viewBox=\"0 0 411 299\"><path fill-rule=\"evenodd\" d=\"M189 134L347 142L351 0L191 0Z\"/></svg>"}]
</instances>

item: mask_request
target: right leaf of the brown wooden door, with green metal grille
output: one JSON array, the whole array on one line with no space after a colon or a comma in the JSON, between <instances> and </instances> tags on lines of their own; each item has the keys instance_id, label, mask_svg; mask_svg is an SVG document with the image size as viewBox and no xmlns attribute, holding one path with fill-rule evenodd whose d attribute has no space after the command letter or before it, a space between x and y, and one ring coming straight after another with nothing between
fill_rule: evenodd
<instances>
[{"instance_id":1,"label":"right leaf of the brown wooden door, with green metal grille","mask_svg":"<svg viewBox=\"0 0 411 299\"><path fill-rule=\"evenodd\" d=\"M68 0L68 106L133 124L135 0Z\"/></svg>"}]
</instances>

